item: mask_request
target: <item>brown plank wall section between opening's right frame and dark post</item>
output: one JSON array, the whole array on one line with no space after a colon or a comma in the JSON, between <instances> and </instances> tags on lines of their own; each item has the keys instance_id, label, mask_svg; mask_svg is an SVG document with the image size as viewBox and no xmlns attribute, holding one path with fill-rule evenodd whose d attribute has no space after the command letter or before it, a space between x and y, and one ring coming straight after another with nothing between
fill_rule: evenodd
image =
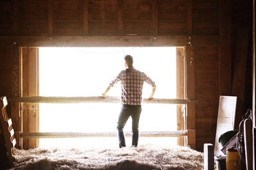
<instances>
[{"instance_id":1,"label":"brown plank wall section between opening's right frame and dark post","mask_svg":"<svg viewBox=\"0 0 256 170\"><path fill-rule=\"evenodd\" d=\"M193 1L192 45L195 56L196 148L213 143L219 99L219 1ZM193 36L200 40L193 43ZM203 37L206 39L202 40Z\"/></svg>"}]
</instances>

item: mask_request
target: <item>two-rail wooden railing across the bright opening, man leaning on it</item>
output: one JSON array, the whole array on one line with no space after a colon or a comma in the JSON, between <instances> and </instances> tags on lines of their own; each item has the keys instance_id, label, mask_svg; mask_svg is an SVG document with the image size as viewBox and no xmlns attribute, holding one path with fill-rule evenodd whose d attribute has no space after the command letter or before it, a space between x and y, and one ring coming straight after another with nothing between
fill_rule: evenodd
<instances>
[{"instance_id":1,"label":"two-rail wooden railing across the bright opening, man leaning on it","mask_svg":"<svg viewBox=\"0 0 256 170\"><path fill-rule=\"evenodd\" d=\"M47 104L76 104L76 103L120 103L120 97L17 97L10 102L47 103ZM189 99L143 99L143 104L187 104ZM125 135L130 136L127 132ZM187 136L186 131L154 131L140 132L142 137L178 137ZM81 138L81 137L114 137L116 132L30 132L21 133L21 138Z\"/></svg>"}]
</instances>

